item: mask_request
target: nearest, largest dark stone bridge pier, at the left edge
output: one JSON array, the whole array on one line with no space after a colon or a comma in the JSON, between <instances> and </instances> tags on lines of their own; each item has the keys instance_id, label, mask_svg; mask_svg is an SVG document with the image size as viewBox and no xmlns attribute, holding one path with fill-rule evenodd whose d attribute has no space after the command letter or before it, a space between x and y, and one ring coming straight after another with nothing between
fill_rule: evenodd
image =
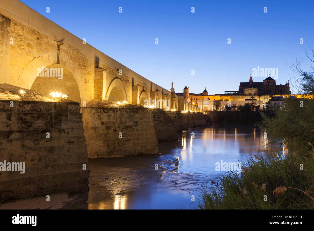
<instances>
[{"instance_id":1,"label":"nearest, largest dark stone bridge pier, at the left edge","mask_svg":"<svg viewBox=\"0 0 314 231\"><path fill-rule=\"evenodd\" d=\"M15 95L17 89L12 89L0 85L0 162L24 162L25 173L0 171L0 203L88 190L88 159L79 104L52 99L36 102L34 98L47 98L25 89L22 101ZM83 164L87 170L83 170Z\"/></svg>"}]
</instances>

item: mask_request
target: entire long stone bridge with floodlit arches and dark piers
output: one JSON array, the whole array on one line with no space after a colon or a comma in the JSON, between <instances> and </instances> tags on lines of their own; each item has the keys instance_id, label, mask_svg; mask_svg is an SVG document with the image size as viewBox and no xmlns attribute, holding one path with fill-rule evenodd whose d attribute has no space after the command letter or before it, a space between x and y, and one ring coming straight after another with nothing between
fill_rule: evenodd
<instances>
[{"instance_id":1,"label":"entire long stone bridge with floodlit arches and dark piers","mask_svg":"<svg viewBox=\"0 0 314 231\"><path fill-rule=\"evenodd\" d=\"M177 141L176 132L208 122L173 87L145 79L18 0L0 2L0 38L0 204L88 190L88 157L158 154L158 141ZM150 98L163 108L143 107ZM24 173L3 172L5 162L24 163Z\"/></svg>"}]
</instances>

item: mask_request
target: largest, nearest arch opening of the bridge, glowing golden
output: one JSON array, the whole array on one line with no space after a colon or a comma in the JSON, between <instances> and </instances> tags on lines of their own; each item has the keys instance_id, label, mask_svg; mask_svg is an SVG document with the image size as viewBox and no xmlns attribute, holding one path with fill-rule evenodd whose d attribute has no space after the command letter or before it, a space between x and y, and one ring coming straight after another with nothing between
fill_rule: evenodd
<instances>
[{"instance_id":1,"label":"largest, nearest arch opening of the bridge, glowing golden","mask_svg":"<svg viewBox=\"0 0 314 231\"><path fill-rule=\"evenodd\" d=\"M78 83L72 72L62 64L51 64L44 68L44 71L38 71L38 74L30 87L32 91L38 91L45 94L58 92L69 95L69 100L79 102L81 105L81 96ZM32 77L30 77L32 78Z\"/></svg>"}]
</instances>

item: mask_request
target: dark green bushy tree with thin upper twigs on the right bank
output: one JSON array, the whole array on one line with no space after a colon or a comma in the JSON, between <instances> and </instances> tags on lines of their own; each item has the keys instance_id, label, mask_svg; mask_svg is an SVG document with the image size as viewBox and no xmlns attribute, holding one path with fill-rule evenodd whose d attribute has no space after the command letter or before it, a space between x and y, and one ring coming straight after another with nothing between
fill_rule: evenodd
<instances>
[{"instance_id":1,"label":"dark green bushy tree with thin upper twigs on the right bank","mask_svg":"<svg viewBox=\"0 0 314 231\"><path fill-rule=\"evenodd\" d=\"M314 52L311 47L310 50L311 55L306 52L306 56L314 62ZM303 71L300 59L296 59L290 69L300 76L294 87L299 94L306 94L308 99L285 98L281 109L268 107L263 111L259 125L267 129L269 137L286 144L289 151L306 155L311 150L307 142L314 143L314 100L311 96L314 92L314 68L311 66L311 71Z\"/></svg>"}]
</instances>

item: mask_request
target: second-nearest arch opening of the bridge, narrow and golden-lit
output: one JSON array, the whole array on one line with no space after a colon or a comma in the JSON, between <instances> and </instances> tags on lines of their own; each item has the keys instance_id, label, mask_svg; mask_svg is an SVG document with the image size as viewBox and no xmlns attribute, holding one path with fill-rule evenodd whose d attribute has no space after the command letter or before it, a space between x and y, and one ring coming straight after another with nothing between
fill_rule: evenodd
<instances>
[{"instance_id":1,"label":"second-nearest arch opening of the bridge, narrow and golden-lit","mask_svg":"<svg viewBox=\"0 0 314 231\"><path fill-rule=\"evenodd\" d=\"M127 101L127 93L120 78L114 78L106 91L106 100Z\"/></svg>"}]
</instances>

